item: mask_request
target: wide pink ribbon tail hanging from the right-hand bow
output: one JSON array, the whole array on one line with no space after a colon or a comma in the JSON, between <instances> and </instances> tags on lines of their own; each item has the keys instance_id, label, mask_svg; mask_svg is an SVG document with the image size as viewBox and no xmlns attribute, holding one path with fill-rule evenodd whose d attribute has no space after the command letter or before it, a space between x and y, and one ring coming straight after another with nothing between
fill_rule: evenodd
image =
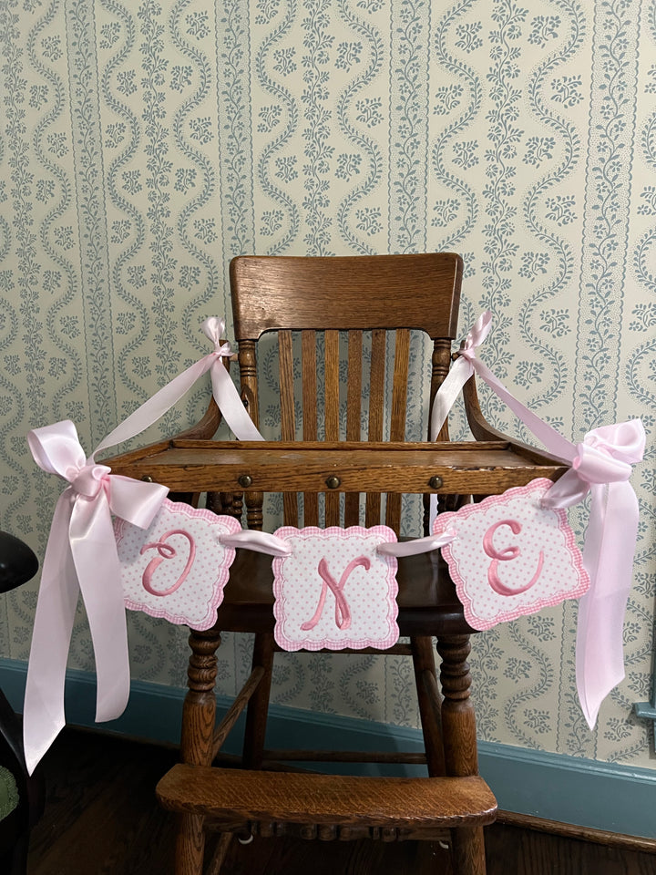
<instances>
[{"instance_id":1,"label":"wide pink ribbon tail hanging from the right-hand bow","mask_svg":"<svg viewBox=\"0 0 656 875\"><path fill-rule=\"evenodd\" d=\"M591 486L583 563L590 589L579 602L576 675L590 729L600 705L624 678L623 624L638 532L638 499L628 482Z\"/></svg>"}]
</instances>

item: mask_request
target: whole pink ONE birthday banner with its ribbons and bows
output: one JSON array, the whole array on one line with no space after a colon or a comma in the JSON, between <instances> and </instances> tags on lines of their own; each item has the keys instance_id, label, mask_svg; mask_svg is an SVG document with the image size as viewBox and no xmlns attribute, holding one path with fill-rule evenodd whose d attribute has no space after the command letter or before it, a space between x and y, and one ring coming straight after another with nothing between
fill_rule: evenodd
<instances>
[{"instance_id":1,"label":"whole pink ONE birthday banner with its ribbons and bows","mask_svg":"<svg viewBox=\"0 0 656 875\"><path fill-rule=\"evenodd\" d=\"M97 453L134 438L210 372L220 412L239 440L262 440L223 358L223 320L203 324L214 351L131 414L87 458L70 420L36 428L27 440L36 464L67 481L56 504L43 562L24 708L30 773L65 725L64 684L81 593L97 666L98 722L122 714L129 695L125 608L210 628L237 547L272 555L275 639L285 650L374 647L398 638L398 558L441 549L467 623L485 630L564 599L580 599L577 687L592 728L600 704L624 676L622 624L630 592L638 502L630 486L642 458L639 419L590 431L574 445L522 405L477 358L491 327L482 314L466 336L433 407L439 433L466 380L476 374L548 451L570 468L555 484L536 479L453 513L431 514L432 534L398 542L385 526L241 530L229 516L166 498L156 483L120 477ZM591 496L581 554L566 508Z\"/></svg>"}]
</instances>

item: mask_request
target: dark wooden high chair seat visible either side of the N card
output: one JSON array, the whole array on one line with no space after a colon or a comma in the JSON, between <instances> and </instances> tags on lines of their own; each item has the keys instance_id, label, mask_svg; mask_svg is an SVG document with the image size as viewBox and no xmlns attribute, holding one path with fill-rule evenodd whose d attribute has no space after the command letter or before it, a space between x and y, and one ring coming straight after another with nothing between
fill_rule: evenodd
<instances>
[{"instance_id":1,"label":"dark wooden high chair seat visible either side of the N card","mask_svg":"<svg viewBox=\"0 0 656 875\"><path fill-rule=\"evenodd\" d=\"M437 551L398 560L398 625L402 635L470 634L456 587ZM272 559L238 550L218 611L224 632L272 632Z\"/></svg>"}]
</instances>

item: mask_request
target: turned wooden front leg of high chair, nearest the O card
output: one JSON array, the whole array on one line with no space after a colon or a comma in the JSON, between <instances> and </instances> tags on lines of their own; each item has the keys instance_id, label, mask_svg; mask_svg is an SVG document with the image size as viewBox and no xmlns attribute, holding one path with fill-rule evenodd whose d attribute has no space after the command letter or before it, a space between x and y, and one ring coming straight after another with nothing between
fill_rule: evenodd
<instances>
[{"instance_id":1,"label":"turned wooden front leg of high chair, nearest the O card","mask_svg":"<svg viewBox=\"0 0 656 875\"><path fill-rule=\"evenodd\" d=\"M180 757L183 763L192 766L210 766L216 722L214 685L220 632L216 628L205 632L192 631L189 643L189 691L182 708ZM176 841L176 875L202 875L204 851L203 818L199 815L182 815Z\"/></svg>"}]
</instances>

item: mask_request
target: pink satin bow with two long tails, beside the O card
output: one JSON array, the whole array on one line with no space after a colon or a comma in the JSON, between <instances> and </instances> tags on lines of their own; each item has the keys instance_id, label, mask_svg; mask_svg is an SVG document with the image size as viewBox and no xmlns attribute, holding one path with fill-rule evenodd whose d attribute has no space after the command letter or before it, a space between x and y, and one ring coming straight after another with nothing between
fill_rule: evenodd
<instances>
[{"instance_id":1,"label":"pink satin bow with two long tails, beside the O card","mask_svg":"<svg viewBox=\"0 0 656 875\"><path fill-rule=\"evenodd\" d=\"M69 419L35 428L27 441L36 464L69 483L57 500L47 542L27 669L23 722L31 774L65 725L64 684L78 592L96 657L96 719L112 720L128 703L128 636L111 514L146 529L169 490L111 474L93 455L87 459Z\"/></svg>"}]
</instances>

